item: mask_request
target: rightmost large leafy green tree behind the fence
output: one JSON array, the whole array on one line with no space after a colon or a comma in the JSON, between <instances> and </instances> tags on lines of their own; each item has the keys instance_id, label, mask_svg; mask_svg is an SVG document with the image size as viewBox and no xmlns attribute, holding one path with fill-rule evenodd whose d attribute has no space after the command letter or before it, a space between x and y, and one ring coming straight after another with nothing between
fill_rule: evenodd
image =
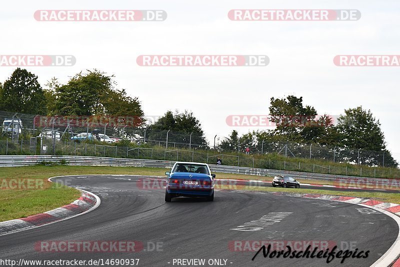
<instances>
[{"instance_id":1,"label":"rightmost large leafy green tree behind the fence","mask_svg":"<svg viewBox=\"0 0 400 267\"><path fill-rule=\"evenodd\" d=\"M344 110L344 115L338 118L337 130L342 136L341 144L344 148L355 149L352 156L347 155L349 161L358 163L357 150L361 149L361 164L378 165L383 162L384 151L385 166L397 166L397 162L386 150L380 122L370 110L364 110L361 106Z\"/></svg>"}]
</instances>

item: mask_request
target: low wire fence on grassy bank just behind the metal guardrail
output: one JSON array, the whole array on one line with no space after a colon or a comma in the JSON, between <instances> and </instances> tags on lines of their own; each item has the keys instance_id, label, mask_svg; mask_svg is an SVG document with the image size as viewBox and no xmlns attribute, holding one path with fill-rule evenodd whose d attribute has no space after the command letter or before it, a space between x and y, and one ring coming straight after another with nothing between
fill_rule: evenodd
<instances>
[{"instance_id":1,"label":"low wire fence on grassy bank just behind the metal guardrail","mask_svg":"<svg viewBox=\"0 0 400 267\"><path fill-rule=\"evenodd\" d=\"M93 144L46 138L20 139L11 142L9 139L0 140L1 155L75 155L113 158L158 159L171 161L194 161L215 164L220 158L223 165L264 168L275 170L290 170L309 173L323 173L347 176L396 178L400 170L384 167L366 167L363 165L347 164L313 164L301 161L264 159L256 156L219 154L216 150L183 150L166 149L161 147L129 147Z\"/></svg>"}]
</instances>

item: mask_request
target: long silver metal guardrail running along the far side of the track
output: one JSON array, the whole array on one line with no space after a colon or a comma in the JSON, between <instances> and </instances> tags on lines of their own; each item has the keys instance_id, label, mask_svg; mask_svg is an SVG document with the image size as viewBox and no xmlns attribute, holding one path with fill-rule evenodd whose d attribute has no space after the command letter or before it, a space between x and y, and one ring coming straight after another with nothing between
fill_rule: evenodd
<instances>
[{"instance_id":1,"label":"long silver metal guardrail running along the far side of the track","mask_svg":"<svg viewBox=\"0 0 400 267\"><path fill-rule=\"evenodd\" d=\"M157 167L157 168L171 168L175 161L168 160L151 160L151 159L125 159L125 158L106 158L106 157L87 157L87 156L0 156L0 167L18 167L37 165L43 161L59 163L61 160L66 161L67 165L71 166L125 166L125 167ZM260 168L248 168L237 166L225 166L208 164L211 171L244 174L244 175L258 175L258 176L275 176L275 175L290 175L297 179L309 180L324 180L324 181L337 181L340 179L352 179L353 181L361 181L365 184L385 185L392 184L394 179L383 178L366 178L355 176L343 176L332 174L318 174L306 173L296 171L284 170L270 170ZM398 180L396 180L398 181Z\"/></svg>"}]
</instances>

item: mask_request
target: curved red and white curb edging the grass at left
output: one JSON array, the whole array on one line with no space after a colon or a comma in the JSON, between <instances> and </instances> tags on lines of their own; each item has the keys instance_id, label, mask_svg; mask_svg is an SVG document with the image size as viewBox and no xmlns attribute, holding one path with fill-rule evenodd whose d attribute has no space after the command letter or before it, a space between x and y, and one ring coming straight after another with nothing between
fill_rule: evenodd
<instances>
[{"instance_id":1,"label":"curved red and white curb edging the grass at left","mask_svg":"<svg viewBox=\"0 0 400 267\"><path fill-rule=\"evenodd\" d=\"M51 178L48 178L48 181L51 182ZM20 232L70 219L92 211L100 205L100 198L98 196L85 190L78 190L81 191L81 196L68 205L25 218L0 222L0 235Z\"/></svg>"}]
</instances>

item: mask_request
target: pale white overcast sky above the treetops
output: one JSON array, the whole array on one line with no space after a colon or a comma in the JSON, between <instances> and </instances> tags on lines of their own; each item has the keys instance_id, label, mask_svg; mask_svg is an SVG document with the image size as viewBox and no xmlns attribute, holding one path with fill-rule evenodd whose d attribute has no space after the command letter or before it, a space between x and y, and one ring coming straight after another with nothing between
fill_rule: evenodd
<instances>
[{"instance_id":1,"label":"pale white overcast sky above the treetops","mask_svg":"<svg viewBox=\"0 0 400 267\"><path fill-rule=\"evenodd\" d=\"M318 114L362 105L400 159L400 67L337 67L340 54L399 55L398 1L13 1L0 10L1 55L73 55L72 67L27 67L44 84L81 70L115 75L147 115L193 111L208 138L227 136L231 114L268 114L294 94ZM36 10L164 10L164 22L37 22ZM356 9L358 21L240 22L232 9ZM267 55L266 67L140 67L139 55ZM0 81L14 67L0 67ZM253 128L236 128L245 133Z\"/></svg>"}]
</instances>

